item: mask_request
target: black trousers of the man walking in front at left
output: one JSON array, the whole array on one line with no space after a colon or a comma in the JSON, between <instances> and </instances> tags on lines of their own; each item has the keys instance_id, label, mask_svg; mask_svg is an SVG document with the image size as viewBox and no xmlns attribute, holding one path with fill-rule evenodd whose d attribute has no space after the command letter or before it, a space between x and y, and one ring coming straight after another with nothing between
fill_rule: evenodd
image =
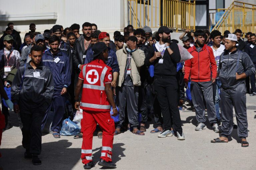
<instances>
[{"instance_id":1,"label":"black trousers of the man walking in front at left","mask_svg":"<svg viewBox=\"0 0 256 170\"><path fill-rule=\"evenodd\" d=\"M23 125L22 146L30 150L32 154L40 154L42 148L41 124L45 113L37 112L37 109L28 112L21 112L20 118Z\"/></svg>"}]
</instances>

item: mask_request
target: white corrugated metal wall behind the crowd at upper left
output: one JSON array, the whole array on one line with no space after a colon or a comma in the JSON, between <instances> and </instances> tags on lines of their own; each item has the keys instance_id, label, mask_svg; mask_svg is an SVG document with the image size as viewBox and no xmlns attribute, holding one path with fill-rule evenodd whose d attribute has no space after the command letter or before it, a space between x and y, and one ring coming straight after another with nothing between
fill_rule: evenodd
<instances>
[{"instance_id":1,"label":"white corrugated metal wall behind the crowd at upper left","mask_svg":"<svg viewBox=\"0 0 256 170\"><path fill-rule=\"evenodd\" d=\"M37 31L43 32L55 24L66 28L77 23L82 27L84 22L95 23L99 30L111 32L124 27L123 6L123 0L1 0L0 14L22 16L57 12L57 20L12 21L14 29L22 33L29 31L30 23L35 23ZM7 23L8 21L0 22L1 33Z\"/></svg>"}]
</instances>

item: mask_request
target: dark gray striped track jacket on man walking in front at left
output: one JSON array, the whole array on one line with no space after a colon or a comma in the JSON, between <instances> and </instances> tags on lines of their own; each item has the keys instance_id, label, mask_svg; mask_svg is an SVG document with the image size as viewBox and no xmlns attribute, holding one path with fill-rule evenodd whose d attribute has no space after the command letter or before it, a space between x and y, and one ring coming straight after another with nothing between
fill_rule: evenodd
<instances>
[{"instance_id":1,"label":"dark gray striped track jacket on man walking in front at left","mask_svg":"<svg viewBox=\"0 0 256 170\"><path fill-rule=\"evenodd\" d=\"M12 101L19 105L22 112L30 113L31 109L37 109L37 111L45 113L51 103L54 91L52 72L42 63L34 70L30 62L26 63L26 70L25 64L21 65L13 79ZM34 77L34 72L39 72L40 76Z\"/></svg>"}]
</instances>

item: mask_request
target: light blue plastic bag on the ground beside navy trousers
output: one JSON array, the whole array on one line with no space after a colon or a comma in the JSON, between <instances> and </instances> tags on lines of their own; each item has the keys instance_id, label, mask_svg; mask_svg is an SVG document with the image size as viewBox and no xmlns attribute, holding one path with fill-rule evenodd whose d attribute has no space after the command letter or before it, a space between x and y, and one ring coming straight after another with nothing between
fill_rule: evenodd
<instances>
[{"instance_id":1,"label":"light blue plastic bag on the ground beside navy trousers","mask_svg":"<svg viewBox=\"0 0 256 170\"><path fill-rule=\"evenodd\" d=\"M60 129L60 135L63 136L74 136L80 133L80 128L70 120L70 117L62 122Z\"/></svg>"}]
</instances>

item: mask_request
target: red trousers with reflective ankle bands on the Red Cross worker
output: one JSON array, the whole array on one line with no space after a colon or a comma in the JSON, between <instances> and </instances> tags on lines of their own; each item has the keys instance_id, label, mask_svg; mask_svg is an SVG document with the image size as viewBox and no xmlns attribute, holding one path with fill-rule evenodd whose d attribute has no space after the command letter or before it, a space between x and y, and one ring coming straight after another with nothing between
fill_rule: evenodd
<instances>
[{"instance_id":1,"label":"red trousers with reflective ankle bands on the Red Cross worker","mask_svg":"<svg viewBox=\"0 0 256 170\"><path fill-rule=\"evenodd\" d=\"M97 123L103 131L100 158L107 162L112 161L115 123L114 120L111 119L110 113L83 111L83 119L81 120L81 132L83 132L81 159L83 164L92 161L92 137Z\"/></svg>"}]
</instances>

